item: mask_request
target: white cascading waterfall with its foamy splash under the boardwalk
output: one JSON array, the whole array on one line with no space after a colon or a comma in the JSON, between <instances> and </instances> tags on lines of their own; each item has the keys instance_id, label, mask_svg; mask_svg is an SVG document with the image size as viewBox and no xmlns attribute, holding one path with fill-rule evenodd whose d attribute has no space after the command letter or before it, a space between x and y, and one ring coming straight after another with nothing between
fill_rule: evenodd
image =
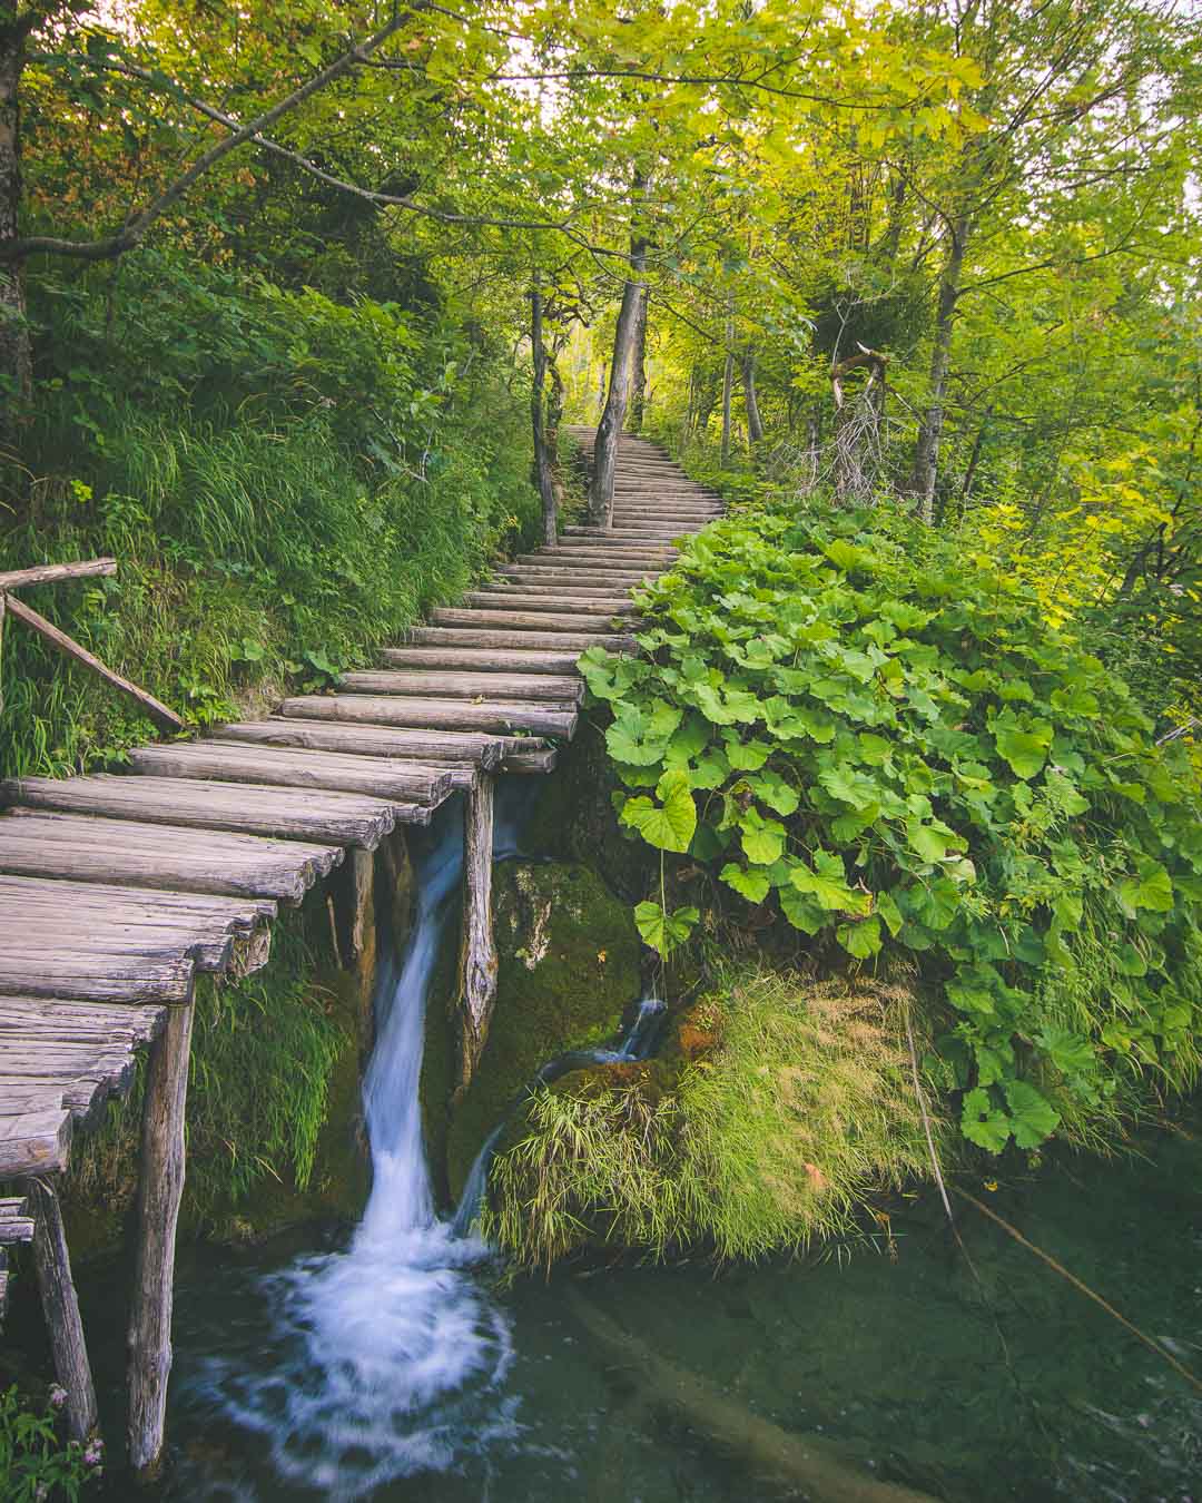
<instances>
[{"instance_id":1,"label":"white cascading waterfall with its foamy splash under the boardwalk","mask_svg":"<svg viewBox=\"0 0 1202 1503\"><path fill-rule=\"evenodd\" d=\"M517 854L524 789L502 785L494 855ZM488 1249L472 1235L502 1123L481 1150L454 1220L434 1208L422 1142L419 1081L425 1004L461 873L461 812L446 810L418 851L418 912L400 963L377 987L379 1033L364 1081L373 1189L349 1247L261 1281L272 1372L261 1347L206 1359L189 1401L258 1434L276 1476L331 1498L448 1470L517 1435L517 1399L502 1393L509 1324L476 1278ZM604 1060L642 1058L661 1003L643 1003L616 1049L544 1066L536 1082Z\"/></svg>"}]
</instances>

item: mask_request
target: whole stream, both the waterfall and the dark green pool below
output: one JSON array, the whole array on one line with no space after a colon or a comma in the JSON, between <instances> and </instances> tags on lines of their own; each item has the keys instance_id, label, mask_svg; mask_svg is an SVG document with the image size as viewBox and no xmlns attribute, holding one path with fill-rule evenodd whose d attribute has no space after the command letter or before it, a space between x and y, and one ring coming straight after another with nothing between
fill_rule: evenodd
<instances>
[{"instance_id":1,"label":"whole stream, both the waterfall and the dark green pool below","mask_svg":"<svg viewBox=\"0 0 1202 1503\"><path fill-rule=\"evenodd\" d=\"M502 818L497 851L514 848ZM935 1193L820 1258L500 1284L470 1204L458 1225L437 1213L421 1136L424 1009L460 876L448 824L418 875L364 1087L362 1223L332 1243L310 1229L249 1252L180 1249L164 1503L822 1503L780 1468L757 1471L739 1414L948 1503L1202 1503L1202 1395L963 1207L974 1276ZM613 1052L648 1048L655 1013L645 1006ZM1202 1114L1146 1135L1137 1156L1059 1156L996 1193L972 1189L1202 1372ZM114 1405L120 1300L95 1278L83 1297ZM624 1333L714 1402L666 1401ZM108 1492L128 1495L120 1477Z\"/></svg>"}]
</instances>

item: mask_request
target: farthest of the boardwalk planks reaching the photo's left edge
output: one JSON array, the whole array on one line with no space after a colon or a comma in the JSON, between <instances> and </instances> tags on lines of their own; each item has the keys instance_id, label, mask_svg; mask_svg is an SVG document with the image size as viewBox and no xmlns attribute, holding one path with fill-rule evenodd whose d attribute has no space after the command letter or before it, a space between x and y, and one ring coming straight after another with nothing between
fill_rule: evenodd
<instances>
[{"instance_id":1,"label":"farthest of the boardwalk planks reaching the photo's left edge","mask_svg":"<svg viewBox=\"0 0 1202 1503\"><path fill-rule=\"evenodd\" d=\"M113 777L105 773L21 779L0 785L0 800L26 809L331 842L367 851L374 851L397 825L397 804L391 800L346 792L314 798L313 792L294 788L206 779Z\"/></svg>"}]
</instances>

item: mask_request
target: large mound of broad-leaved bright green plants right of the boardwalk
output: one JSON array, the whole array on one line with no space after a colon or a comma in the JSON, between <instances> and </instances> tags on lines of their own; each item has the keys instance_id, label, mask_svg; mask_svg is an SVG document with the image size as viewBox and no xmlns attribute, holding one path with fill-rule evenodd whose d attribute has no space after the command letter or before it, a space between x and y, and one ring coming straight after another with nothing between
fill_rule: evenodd
<instances>
[{"instance_id":1,"label":"large mound of broad-leaved bright green plants right of the boardwalk","mask_svg":"<svg viewBox=\"0 0 1202 1503\"><path fill-rule=\"evenodd\" d=\"M772 504L640 610L642 657L581 660L622 824L832 963L917 962L972 1142L1088 1136L1196 1076L1194 774L1019 585L888 508ZM666 954L700 914L636 917Z\"/></svg>"}]
</instances>

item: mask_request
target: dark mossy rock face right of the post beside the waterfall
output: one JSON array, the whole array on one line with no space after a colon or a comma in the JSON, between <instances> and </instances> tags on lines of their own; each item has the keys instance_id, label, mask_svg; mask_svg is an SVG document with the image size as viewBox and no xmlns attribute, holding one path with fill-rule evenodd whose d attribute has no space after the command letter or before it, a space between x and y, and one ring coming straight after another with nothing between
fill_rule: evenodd
<instances>
[{"instance_id":1,"label":"dark mossy rock face right of the post beside the waterfall","mask_svg":"<svg viewBox=\"0 0 1202 1503\"><path fill-rule=\"evenodd\" d=\"M481 1144L536 1070L604 1043L639 995L630 905L580 863L506 861L493 879L497 999L488 1043L446 1142L458 1195Z\"/></svg>"}]
</instances>

